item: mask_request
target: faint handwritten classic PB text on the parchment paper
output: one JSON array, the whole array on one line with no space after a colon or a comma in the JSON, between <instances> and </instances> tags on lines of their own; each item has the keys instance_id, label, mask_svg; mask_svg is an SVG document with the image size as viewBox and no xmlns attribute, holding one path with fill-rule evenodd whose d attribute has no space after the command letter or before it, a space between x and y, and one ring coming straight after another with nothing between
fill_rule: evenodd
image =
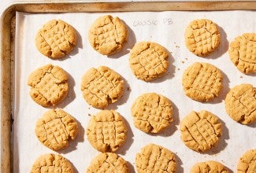
<instances>
[{"instance_id":1,"label":"faint handwritten classic PB text on the parchment paper","mask_svg":"<svg viewBox=\"0 0 256 173\"><path fill-rule=\"evenodd\" d=\"M158 24L171 25L171 24L173 24L173 19L172 18L164 18L162 20L154 20L154 19L134 20L132 25L134 27L141 27L141 26L150 26L150 25L156 26Z\"/></svg>"}]
</instances>

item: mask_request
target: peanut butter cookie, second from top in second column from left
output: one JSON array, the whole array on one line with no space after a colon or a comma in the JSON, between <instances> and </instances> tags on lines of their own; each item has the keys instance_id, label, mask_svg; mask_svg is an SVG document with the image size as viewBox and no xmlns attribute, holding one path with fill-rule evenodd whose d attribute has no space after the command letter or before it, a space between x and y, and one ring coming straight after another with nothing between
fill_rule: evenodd
<instances>
[{"instance_id":1,"label":"peanut butter cookie, second from top in second column from left","mask_svg":"<svg viewBox=\"0 0 256 173\"><path fill-rule=\"evenodd\" d=\"M105 108L124 94L124 80L112 69L90 68L82 77L83 98L95 108Z\"/></svg>"}]
</instances>

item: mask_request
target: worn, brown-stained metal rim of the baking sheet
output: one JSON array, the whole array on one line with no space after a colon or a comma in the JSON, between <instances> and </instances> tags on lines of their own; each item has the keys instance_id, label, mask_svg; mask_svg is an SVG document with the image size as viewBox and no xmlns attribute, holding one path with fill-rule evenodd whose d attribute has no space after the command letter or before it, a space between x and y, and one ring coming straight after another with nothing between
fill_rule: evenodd
<instances>
[{"instance_id":1,"label":"worn, brown-stained metal rim of the baking sheet","mask_svg":"<svg viewBox=\"0 0 256 173\"><path fill-rule=\"evenodd\" d=\"M27 13L109 12L109 11L166 11L166 10L255 10L256 1L63 1L15 2L1 13L0 25L0 157L1 172L12 171L12 74L13 74L13 18L17 11Z\"/></svg>"}]
</instances>

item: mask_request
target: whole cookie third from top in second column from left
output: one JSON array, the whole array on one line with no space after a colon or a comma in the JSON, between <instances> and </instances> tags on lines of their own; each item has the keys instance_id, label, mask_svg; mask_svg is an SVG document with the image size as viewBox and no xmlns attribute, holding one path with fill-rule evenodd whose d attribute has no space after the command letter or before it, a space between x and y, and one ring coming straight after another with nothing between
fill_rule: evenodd
<instances>
[{"instance_id":1,"label":"whole cookie third from top in second column from left","mask_svg":"<svg viewBox=\"0 0 256 173\"><path fill-rule=\"evenodd\" d=\"M87 138L100 152L115 152L124 144L127 127L123 118L114 110L102 110L91 119L87 126Z\"/></svg>"}]
</instances>

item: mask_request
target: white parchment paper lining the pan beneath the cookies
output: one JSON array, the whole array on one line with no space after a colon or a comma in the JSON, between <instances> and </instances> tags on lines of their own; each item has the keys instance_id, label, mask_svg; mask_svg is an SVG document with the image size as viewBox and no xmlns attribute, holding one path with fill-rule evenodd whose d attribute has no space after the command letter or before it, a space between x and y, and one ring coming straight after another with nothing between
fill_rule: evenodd
<instances>
[{"instance_id":1,"label":"white parchment paper lining the pan beneath the cookies","mask_svg":"<svg viewBox=\"0 0 256 173\"><path fill-rule=\"evenodd\" d=\"M13 172L30 171L35 159L44 153L56 153L35 137L35 122L48 109L37 105L29 96L28 75L43 66L54 64L69 73L69 94L57 108L69 112L80 124L76 140L69 148L58 153L65 156L75 167L76 172L84 172L91 159L98 155L85 135L90 119L99 109L94 109L84 101L80 90L82 75L91 67L106 65L121 74L125 81L124 96L107 109L116 109L124 117L128 126L128 138L117 154L128 161L131 172L135 172L135 153L149 143L162 145L176 153L177 172L189 172L190 167L200 161L217 160L236 171L236 164L247 149L256 148L255 123L250 126L233 121L224 110L224 97L229 88L240 83L256 86L255 75L243 75L228 57L228 43L244 32L255 31L254 11L218 12L129 12L107 13L117 16L128 25L129 39L124 49L113 56L106 57L90 46L87 33L92 22L106 13L18 13L15 40L15 94L13 101ZM191 20L207 18L218 24L221 31L221 47L210 57L196 57L184 45L184 30ZM61 19L76 28L77 46L69 56L61 60L44 57L35 47L35 35L48 20ZM129 50L135 42L153 41L165 46L170 53L168 72L153 82L146 83L135 79L128 66ZM209 103L192 101L184 95L181 76L184 69L195 61L207 62L220 68L223 80L221 95ZM173 103L174 122L161 134L145 134L133 125L130 108L140 94L156 92L163 94ZM218 145L206 153L196 153L188 149L180 139L180 120L191 112L206 109L217 115L223 124L223 136Z\"/></svg>"}]
</instances>

